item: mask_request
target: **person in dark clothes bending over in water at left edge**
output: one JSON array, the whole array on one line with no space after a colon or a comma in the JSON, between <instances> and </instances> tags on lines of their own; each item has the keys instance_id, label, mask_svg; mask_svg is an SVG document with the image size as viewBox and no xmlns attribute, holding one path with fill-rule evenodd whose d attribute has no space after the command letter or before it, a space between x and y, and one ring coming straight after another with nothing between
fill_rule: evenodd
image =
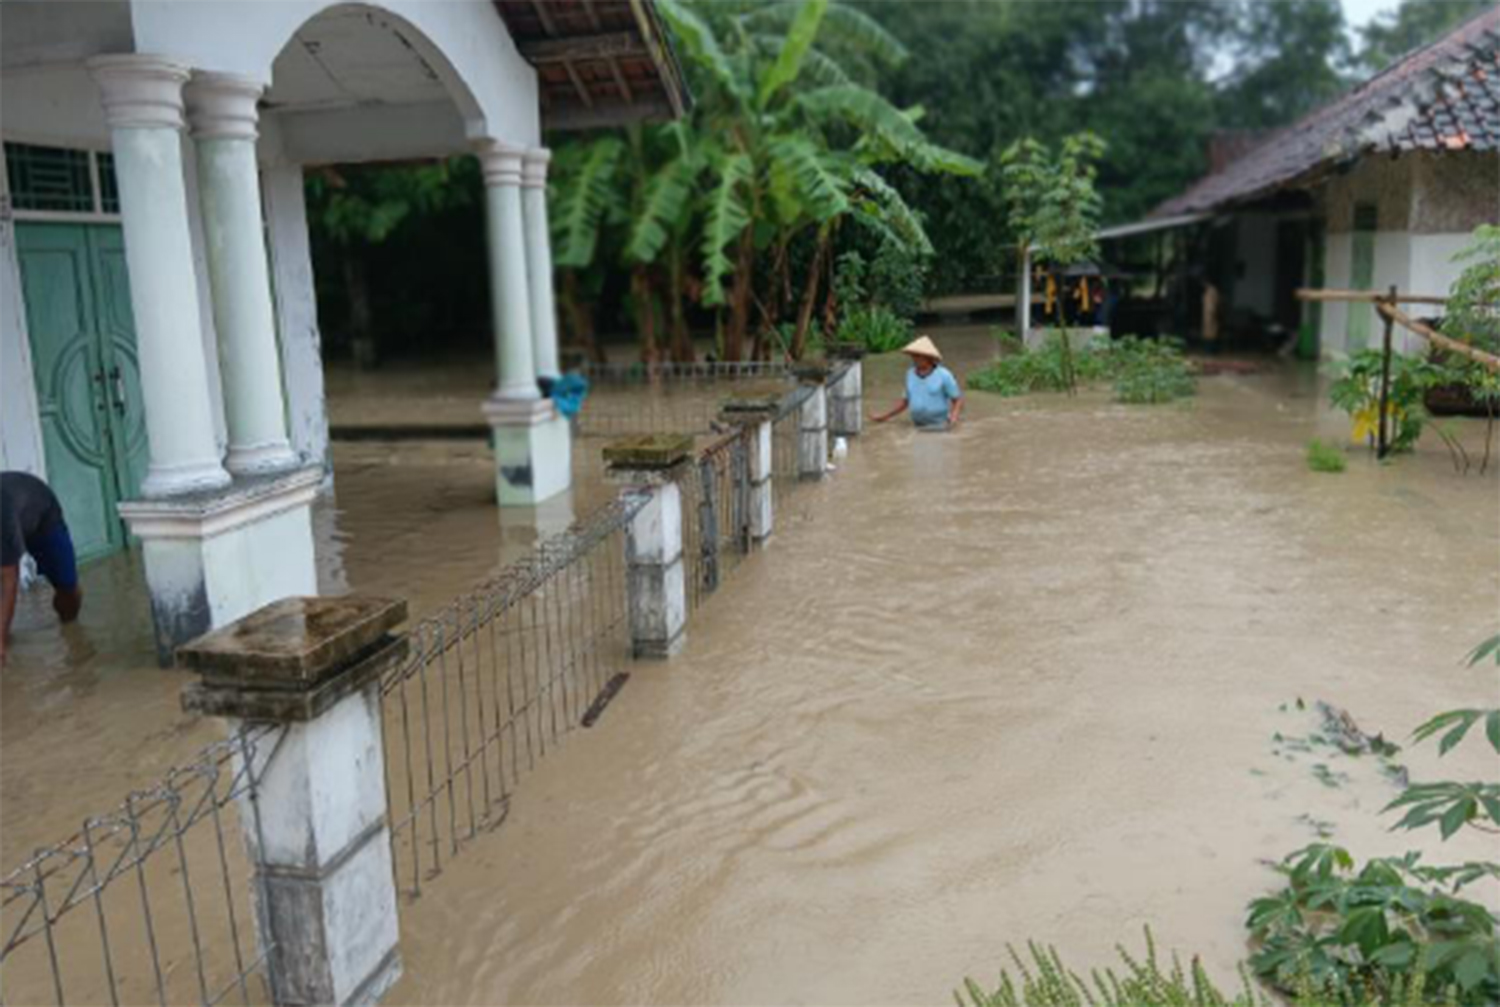
<instances>
[{"instance_id":1,"label":"person in dark clothes bending over in water at left edge","mask_svg":"<svg viewBox=\"0 0 1500 1007\"><path fill-rule=\"evenodd\" d=\"M10 620L21 590L21 557L52 585L52 611L64 623L78 618L84 593L78 588L74 537L57 495L36 476L0 473L0 663L10 645Z\"/></svg>"}]
</instances>

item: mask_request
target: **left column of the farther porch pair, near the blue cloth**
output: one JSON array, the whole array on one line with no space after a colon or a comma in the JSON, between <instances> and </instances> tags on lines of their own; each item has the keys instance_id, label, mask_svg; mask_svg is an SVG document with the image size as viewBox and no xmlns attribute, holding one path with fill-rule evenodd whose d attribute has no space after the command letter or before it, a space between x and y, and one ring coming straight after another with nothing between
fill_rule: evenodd
<instances>
[{"instance_id":1,"label":"left column of the farther porch pair, near the blue cloth","mask_svg":"<svg viewBox=\"0 0 1500 1007\"><path fill-rule=\"evenodd\" d=\"M498 399L537 399L536 357L531 351L531 305L526 290L526 242L520 215L520 147L496 140L478 150L484 168L489 296L495 317Z\"/></svg>"}]
</instances>

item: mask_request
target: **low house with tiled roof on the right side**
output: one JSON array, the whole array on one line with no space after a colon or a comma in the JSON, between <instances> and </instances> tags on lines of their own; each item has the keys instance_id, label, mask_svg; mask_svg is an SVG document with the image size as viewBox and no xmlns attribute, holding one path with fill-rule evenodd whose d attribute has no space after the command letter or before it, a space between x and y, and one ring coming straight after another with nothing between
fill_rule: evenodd
<instances>
[{"instance_id":1,"label":"low house with tiled roof on the right side","mask_svg":"<svg viewBox=\"0 0 1500 1007\"><path fill-rule=\"evenodd\" d=\"M1378 342L1374 312L1304 305L1299 287L1443 296L1462 270L1454 255L1497 222L1500 8L1490 8L1100 237L1156 231L1173 248L1162 260L1218 290L1226 327L1275 326L1310 356L1341 357ZM1178 321L1200 317L1176 308ZM1400 339L1402 351L1420 342Z\"/></svg>"}]
</instances>

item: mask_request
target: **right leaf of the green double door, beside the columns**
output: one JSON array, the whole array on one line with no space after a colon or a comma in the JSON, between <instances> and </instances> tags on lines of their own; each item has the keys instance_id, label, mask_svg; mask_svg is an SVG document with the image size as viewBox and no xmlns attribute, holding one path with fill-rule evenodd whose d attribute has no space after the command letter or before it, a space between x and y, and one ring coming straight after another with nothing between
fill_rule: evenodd
<instances>
[{"instance_id":1,"label":"right leaf of the green double door, beside the columns","mask_svg":"<svg viewBox=\"0 0 1500 1007\"><path fill-rule=\"evenodd\" d=\"M130 276L124 267L124 236L117 227L93 227L88 228L88 239L93 252L94 314L102 336L100 359L110 383L117 489L122 500L134 500L141 495L150 452L141 398L141 360L135 351L135 317L130 314Z\"/></svg>"}]
</instances>

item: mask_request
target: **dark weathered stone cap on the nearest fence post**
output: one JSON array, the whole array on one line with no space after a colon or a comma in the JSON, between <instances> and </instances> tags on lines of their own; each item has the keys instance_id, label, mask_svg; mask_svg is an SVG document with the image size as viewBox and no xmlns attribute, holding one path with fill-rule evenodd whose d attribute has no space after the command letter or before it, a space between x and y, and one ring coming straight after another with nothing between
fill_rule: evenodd
<instances>
[{"instance_id":1,"label":"dark weathered stone cap on the nearest fence post","mask_svg":"<svg viewBox=\"0 0 1500 1007\"><path fill-rule=\"evenodd\" d=\"M285 597L177 648L201 681L183 708L244 720L310 720L405 657L406 602Z\"/></svg>"}]
</instances>

